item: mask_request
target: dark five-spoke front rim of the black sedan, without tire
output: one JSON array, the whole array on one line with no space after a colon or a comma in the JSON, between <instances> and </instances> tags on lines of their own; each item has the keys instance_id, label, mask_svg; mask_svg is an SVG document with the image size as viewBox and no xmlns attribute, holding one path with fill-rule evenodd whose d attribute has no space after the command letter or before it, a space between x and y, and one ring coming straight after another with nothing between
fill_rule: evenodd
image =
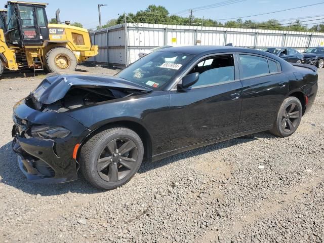
<instances>
[{"instance_id":1,"label":"dark five-spoke front rim of the black sedan, without tire","mask_svg":"<svg viewBox=\"0 0 324 243\"><path fill-rule=\"evenodd\" d=\"M99 176L107 182L116 182L134 171L138 161L136 144L128 138L118 138L109 142L97 160Z\"/></svg>"}]
</instances>

